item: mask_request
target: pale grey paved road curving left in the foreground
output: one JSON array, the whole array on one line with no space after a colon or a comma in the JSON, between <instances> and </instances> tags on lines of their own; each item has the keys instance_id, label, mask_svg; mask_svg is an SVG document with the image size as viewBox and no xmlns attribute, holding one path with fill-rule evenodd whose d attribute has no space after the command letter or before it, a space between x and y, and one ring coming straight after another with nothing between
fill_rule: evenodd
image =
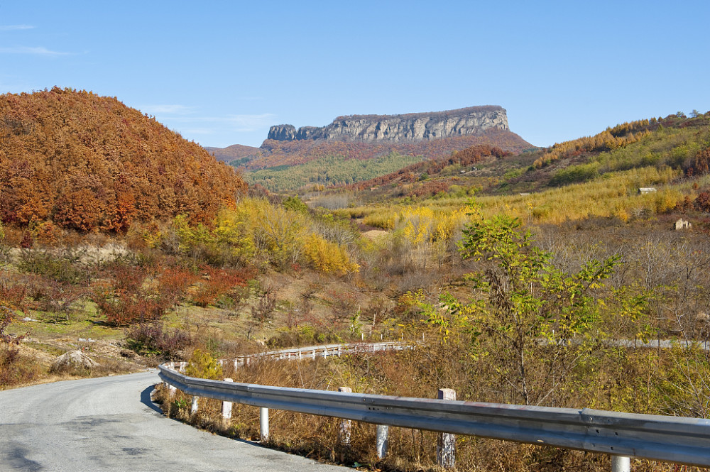
<instances>
[{"instance_id":1,"label":"pale grey paved road curving left in the foreground","mask_svg":"<svg viewBox=\"0 0 710 472\"><path fill-rule=\"evenodd\" d=\"M322 471L300 456L168 419L155 371L0 392L0 471Z\"/></svg>"}]
</instances>

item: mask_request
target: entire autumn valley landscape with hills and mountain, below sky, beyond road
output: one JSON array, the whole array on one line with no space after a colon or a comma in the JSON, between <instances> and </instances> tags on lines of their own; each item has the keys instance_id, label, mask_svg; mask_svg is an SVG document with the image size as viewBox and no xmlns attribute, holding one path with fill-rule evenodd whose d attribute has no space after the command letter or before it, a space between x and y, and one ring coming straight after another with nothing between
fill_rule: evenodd
<instances>
[{"instance_id":1,"label":"entire autumn valley landscape with hills and mountain, below sky, beyond road","mask_svg":"<svg viewBox=\"0 0 710 472\"><path fill-rule=\"evenodd\" d=\"M204 150L91 92L1 96L0 386L402 340L417 348L222 373L707 418L710 112L536 148L503 126L504 109L461 110L275 126L261 148ZM461 114L482 115L464 126ZM458 125L408 125L447 116ZM102 368L53 368L74 349ZM256 436L253 410L222 428L216 407L190 415L179 400L170 415ZM328 446L334 419L275 421L273 446L343 461ZM372 435L354 427L347 463L436 469L434 434L398 430L383 460ZM608 468L562 449L457 447L461 470Z\"/></svg>"}]
</instances>

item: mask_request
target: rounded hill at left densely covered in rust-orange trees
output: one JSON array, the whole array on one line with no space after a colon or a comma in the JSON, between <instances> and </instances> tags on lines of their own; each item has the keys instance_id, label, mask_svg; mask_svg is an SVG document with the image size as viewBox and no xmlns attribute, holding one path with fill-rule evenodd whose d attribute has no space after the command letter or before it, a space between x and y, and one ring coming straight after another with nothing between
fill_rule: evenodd
<instances>
[{"instance_id":1,"label":"rounded hill at left densely covered in rust-orange trees","mask_svg":"<svg viewBox=\"0 0 710 472\"><path fill-rule=\"evenodd\" d=\"M125 231L188 214L211 221L246 184L154 118L116 98L54 87L0 95L0 219Z\"/></svg>"}]
</instances>

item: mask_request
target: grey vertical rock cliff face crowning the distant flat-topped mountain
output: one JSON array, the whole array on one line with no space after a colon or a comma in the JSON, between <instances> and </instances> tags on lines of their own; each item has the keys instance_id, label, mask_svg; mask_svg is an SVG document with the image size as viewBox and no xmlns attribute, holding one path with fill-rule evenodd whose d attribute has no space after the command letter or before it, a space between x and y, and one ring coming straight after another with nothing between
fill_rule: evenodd
<instances>
[{"instance_id":1,"label":"grey vertical rock cliff face crowning the distant flat-topped mountain","mask_svg":"<svg viewBox=\"0 0 710 472\"><path fill-rule=\"evenodd\" d=\"M328 126L271 126L268 139L295 141L386 141L409 143L451 136L476 135L490 128L510 131L506 110L500 106L471 106L457 110L405 115L339 116Z\"/></svg>"}]
</instances>

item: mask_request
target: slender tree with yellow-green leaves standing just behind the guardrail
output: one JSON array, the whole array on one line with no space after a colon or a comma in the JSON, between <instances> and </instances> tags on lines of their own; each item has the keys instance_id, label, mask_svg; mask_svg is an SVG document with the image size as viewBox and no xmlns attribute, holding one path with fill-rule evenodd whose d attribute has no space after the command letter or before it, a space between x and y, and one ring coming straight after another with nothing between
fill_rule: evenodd
<instances>
[{"instance_id":1,"label":"slender tree with yellow-green leaves standing just behind the guardrail","mask_svg":"<svg viewBox=\"0 0 710 472\"><path fill-rule=\"evenodd\" d=\"M469 205L471 214L478 216ZM590 260L578 273L552 265L520 221L499 215L464 229L461 253L479 261L474 322L501 375L507 401L554 404L555 390L597 341L600 305L595 292L618 258ZM485 351L485 346L481 348Z\"/></svg>"}]
</instances>

